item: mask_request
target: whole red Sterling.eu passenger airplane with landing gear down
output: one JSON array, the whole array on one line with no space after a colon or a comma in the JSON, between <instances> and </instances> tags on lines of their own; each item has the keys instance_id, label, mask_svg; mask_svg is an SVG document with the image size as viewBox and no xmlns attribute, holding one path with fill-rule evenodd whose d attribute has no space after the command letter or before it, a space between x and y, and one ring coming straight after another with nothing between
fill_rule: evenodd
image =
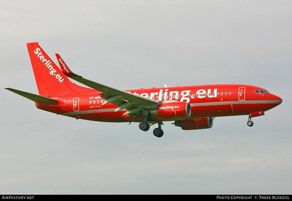
<instances>
[{"instance_id":1,"label":"whole red Sterling.eu passenger airplane with landing gear down","mask_svg":"<svg viewBox=\"0 0 292 201\"><path fill-rule=\"evenodd\" d=\"M221 116L264 115L282 99L267 90L243 84L213 84L151 89L119 90L74 74L56 54L60 68L39 43L27 43L39 95L5 88L33 100L41 110L76 119L100 122L140 122L154 136L163 136L162 122L174 121L183 130L207 129ZM91 87L72 83L68 77ZM130 124L129 123L129 124Z\"/></svg>"}]
</instances>

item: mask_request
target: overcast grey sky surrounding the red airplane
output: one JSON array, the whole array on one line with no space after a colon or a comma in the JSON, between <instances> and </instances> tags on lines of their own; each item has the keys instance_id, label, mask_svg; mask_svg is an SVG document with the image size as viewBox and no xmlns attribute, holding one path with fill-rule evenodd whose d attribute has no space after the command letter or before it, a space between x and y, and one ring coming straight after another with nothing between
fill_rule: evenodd
<instances>
[{"instance_id":1,"label":"overcast grey sky surrounding the red airplane","mask_svg":"<svg viewBox=\"0 0 292 201\"><path fill-rule=\"evenodd\" d=\"M37 93L26 43L118 89L250 84L264 116L164 136L0 89L0 194L291 194L292 1L1 1L1 87ZM56 61L56 59L55 59Z\"/></svg>"}]
</instances>

